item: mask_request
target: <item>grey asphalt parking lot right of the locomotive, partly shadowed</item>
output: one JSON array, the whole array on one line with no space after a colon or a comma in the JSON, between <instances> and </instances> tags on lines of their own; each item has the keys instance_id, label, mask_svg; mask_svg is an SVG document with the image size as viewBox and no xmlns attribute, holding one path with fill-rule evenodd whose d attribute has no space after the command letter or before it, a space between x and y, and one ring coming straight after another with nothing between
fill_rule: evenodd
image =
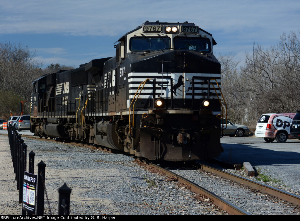
<instances>
[{"instance_id":1,"label":"grey asphalt parking lot right of the locomotive, partly shadowed","mask_svg":"<svg viewBox=\"0 0 300 221\"><path fill-rule=\"evenodd\" d=\"M256 170L262 169L272 178L283 180L286 185L300 188L300 141L266 143L256 137L223 137L224 153L217 158L221 161L250 162Z\"/></svg>"}]
</instances>

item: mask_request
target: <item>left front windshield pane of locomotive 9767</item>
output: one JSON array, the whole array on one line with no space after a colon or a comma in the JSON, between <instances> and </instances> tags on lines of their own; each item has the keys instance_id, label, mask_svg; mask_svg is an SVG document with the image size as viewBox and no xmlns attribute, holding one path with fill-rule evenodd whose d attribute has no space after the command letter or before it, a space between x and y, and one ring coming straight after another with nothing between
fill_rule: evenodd
<instances>
[{"instance_id":1,"label":"left front windshield pane of locomotive 9767","mask_svg":"<svg viewBox=\"0 0 300 221\"><path fill-rule=\"evenodd\" d=\"M131 51L155 51L170 50L170 38L168 37L134 37L130 39Z\"/></svg>"}]
</instances>

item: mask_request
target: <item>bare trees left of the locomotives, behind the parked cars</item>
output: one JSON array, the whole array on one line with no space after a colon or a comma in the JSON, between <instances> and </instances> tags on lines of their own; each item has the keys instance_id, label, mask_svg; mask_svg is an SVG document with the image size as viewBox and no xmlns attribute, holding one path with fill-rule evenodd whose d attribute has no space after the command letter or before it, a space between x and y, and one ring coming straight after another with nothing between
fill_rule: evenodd
<instances>
[{"instance_id":1,"label":"bare trees left of the locomotives, behind the parked cars","mask_svg":"<svg viewBox=\"0 0 300 221\"><path fill-rule=\"evenodd\" d=\"M25 102L24 112L29 114L32 93L31 83L44 74L59 70L69 70L60 64L51 64L46 68L36 58L36 51L22 43L0 42L0 119L8 120L10 111L19 116L19 103Z\"/></svg>"}]
</instances>

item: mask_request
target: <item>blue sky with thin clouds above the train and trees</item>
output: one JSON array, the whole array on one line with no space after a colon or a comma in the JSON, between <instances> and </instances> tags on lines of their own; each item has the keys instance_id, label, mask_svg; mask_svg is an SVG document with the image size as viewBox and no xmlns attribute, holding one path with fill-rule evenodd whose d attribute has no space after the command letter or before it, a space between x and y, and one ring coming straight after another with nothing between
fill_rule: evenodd
<instances>
[{"instance_id":1,"label":"blue sky with thin clouds above the train and trees","mask_svg":"<svg viewBox=\"0 0 300 221\"><path fill-rule=\"evenodd\" d=\"M28 46L43 67L112 57L114 43L146 20L195 23L217 42L215 56L241 65L253 42L267 49L300 30L297 0L1 0L0 9L0 42Z\"/></svg>"}]
</instances>

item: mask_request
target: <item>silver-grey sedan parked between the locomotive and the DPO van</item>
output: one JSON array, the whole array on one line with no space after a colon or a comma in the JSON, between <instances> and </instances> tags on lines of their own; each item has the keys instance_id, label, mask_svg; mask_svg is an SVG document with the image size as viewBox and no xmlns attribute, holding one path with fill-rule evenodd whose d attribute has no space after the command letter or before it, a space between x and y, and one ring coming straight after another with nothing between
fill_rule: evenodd
<instances>
[{"instance_id":1,"label":"silver-grey sedan parked between the locomotive and the DPO van","mask_svg":"<svg viewBox=\"0 0 300 221\"><path fill-rule=\"evenodd\" d=\"M223 118L221 119L221 128L223 128L223 131L221 131L221 135L223 132L223 135L228 135L229 137L234 137L235 135L237 137L242 137L242 136L250 133L250 130L248 129L247 126L240 125L240 124L234 124L234 123L230 122L229 120L226 121Z\"/></svg>"}]
</instances>

